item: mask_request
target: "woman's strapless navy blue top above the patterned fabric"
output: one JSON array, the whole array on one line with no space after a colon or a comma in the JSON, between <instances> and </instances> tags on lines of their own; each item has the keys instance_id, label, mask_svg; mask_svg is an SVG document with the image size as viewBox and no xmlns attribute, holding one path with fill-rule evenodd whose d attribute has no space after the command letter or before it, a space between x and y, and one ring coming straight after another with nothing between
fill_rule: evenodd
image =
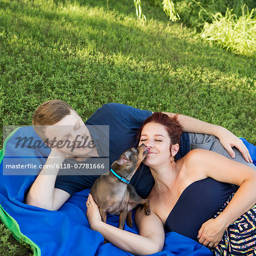
<instances>
[{"instance_id":1,"label":"woman's strapless navy blue top above the patterned fabric","mask_svg":"<svg viewBox=\"0 0 256 256\"><path fill-rule=\"evenodd\" d=\"M166 231L175 231L197 241L202 224L221 209L235 192L232 185L207 177L190 184L181 193L166 220Z\"/></svg>"}]
</instances>

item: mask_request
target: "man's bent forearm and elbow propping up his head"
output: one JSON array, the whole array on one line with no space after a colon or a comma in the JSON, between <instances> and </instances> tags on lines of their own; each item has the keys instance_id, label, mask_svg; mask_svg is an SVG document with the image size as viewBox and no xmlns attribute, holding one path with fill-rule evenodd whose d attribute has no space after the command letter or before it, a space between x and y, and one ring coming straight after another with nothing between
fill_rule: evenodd
<instances>
[{"instance_id":1,"label":"man's bent forearm and elbow propping up his head","mask_svg":"<svg viewBox=\"0 0 256 256\"><path fill-rule=\"evenodd\" d=\"M45 165L60 166L64 156L52 150ZM58 210L70 197L69 193L55 188L55 181L60 168L43 168L30 191L27 193L25 203L47 210Z\"/></svg>"}]
</instances>

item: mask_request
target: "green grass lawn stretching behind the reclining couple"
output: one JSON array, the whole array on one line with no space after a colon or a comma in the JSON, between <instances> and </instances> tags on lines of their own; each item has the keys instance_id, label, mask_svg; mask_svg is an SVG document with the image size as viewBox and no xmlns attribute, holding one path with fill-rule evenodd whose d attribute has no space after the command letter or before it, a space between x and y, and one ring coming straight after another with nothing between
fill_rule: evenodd
<instances>
[{"instance_id":1,"label":"green grass lawn stretching behind the reclining couple","mask_svg":"<svg viewBox=\"0 0 256 256\"><path fill-rule=\"evenodd\" d=\"M54 98L84 120L119 102L191 115L255 144L255 59L210 46L148 2L143 13L144 25L133 1L109 1L108 10L105 0L2 0L3 125L31 125Z\"/></svg>"}]
</instances>

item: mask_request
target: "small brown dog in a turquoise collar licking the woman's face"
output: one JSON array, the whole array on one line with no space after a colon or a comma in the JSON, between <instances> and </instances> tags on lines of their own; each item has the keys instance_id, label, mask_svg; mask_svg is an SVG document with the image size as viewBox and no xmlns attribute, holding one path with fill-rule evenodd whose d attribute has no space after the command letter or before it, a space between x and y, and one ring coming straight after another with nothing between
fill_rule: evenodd
<instances>
[{"instance_id":1,"label":"small brown dog in a turquoise collar licking the woman's face","mask_svg":"<svg viewBox=\"0 0 256 256\"><path fill-rule=\"evenodd\" d=\"M115 161L109 175L101 175L93 184L90 193L98 207L102 221L106 222L106 214L119 214L119 228L123 229L127 217L127 225L133 226L131 220L131 210L138 204L144 205L146 215L150 214L148 199L142 199L130 179L135 174L139 164L146 158L148 151L146 146L141 144L137 148L130 148L123 152L117 161Z\"/></svg>"}]
</instances>

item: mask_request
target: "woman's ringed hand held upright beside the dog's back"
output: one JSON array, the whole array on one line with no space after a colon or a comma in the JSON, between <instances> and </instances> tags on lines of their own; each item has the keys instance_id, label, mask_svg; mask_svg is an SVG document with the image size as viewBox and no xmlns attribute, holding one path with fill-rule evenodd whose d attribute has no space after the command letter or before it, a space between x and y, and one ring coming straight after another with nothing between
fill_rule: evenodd
<instances>
[{"instance_id":1,"label":"woman's ringed hand held upright beside the dog's back","mask_svg":"<svg viewBox=\"0 0 256 256\"><path fill-rule=\"evenodd\" d=\"M98 224L102 222L100 210L98 209L98 205L93 200L92 195L89 194L88 199L86 201L87 212L86 216L88 218L90 228L93 230L97 230Z\"/></svg>"}]
</instances>

